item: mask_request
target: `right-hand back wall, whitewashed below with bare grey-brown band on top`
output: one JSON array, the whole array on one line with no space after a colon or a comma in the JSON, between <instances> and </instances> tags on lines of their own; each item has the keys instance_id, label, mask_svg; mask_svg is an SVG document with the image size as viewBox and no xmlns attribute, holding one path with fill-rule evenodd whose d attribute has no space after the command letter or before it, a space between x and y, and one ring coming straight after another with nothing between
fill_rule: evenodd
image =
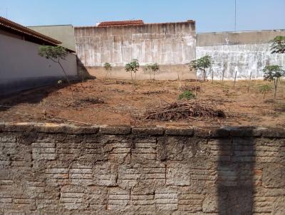
<instances>
[{"instance_id":1,"label":"right-hand back wall, whitewashed below with bare grey-brown band on top","mask_svg":"<svg viewBox=\"0 0 285 215\"><path fill-rule=\"evenodd\" d=\"M214 79L262 78L262 69L268 64L285 66L285 55L271 54L270 41L278 35L285 36L285 30L217 32L197 34L196 56L212 56L214 64L207 76ZM202 74L198 73L198 77Z\"/></svg>"}]
</instances>

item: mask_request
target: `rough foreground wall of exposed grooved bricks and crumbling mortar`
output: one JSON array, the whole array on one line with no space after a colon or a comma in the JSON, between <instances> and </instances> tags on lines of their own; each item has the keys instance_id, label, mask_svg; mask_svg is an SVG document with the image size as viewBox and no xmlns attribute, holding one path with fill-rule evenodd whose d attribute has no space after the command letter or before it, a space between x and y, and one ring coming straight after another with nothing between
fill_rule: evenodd
<instances>
[{"instance_id":1,"label":"rough foreground wall of exposed grooved bricks and crumbling mortar","mask_svg":"<svg viewBox=\"0 0 285 215\"><path fill-rule=\"evenodd\" d=\"M0 124L0 214L285 214L285 130Z\"/></svg>"}]
</instances>

